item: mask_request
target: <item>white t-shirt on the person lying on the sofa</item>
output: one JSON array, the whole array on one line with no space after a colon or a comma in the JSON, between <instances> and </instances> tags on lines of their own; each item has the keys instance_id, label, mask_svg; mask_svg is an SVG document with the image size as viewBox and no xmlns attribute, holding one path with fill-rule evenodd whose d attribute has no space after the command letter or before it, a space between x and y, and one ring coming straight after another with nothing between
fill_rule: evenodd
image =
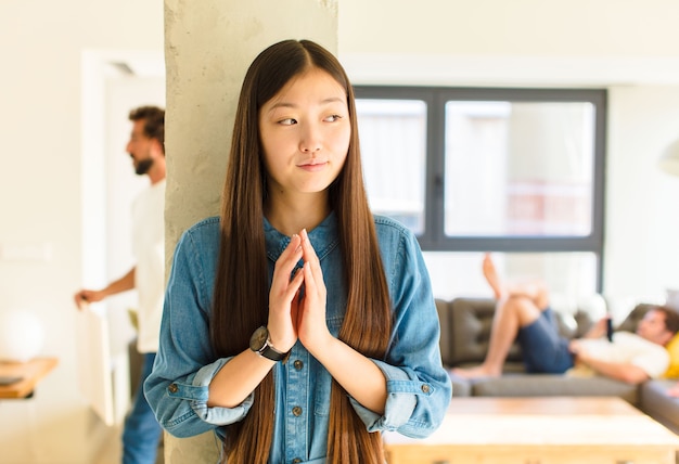
<instances>
[{"instance_id":1,"label":"white t-shirt on the person lying on the sofa","mask_svg":"<svg viewBox=\"0 0 679 464\"><path fill-rule=\"evenodd\" d=\"M651 378L662 376L669 365L669 355L665 347L631 332L614 333L613 343L605 338L581 338L578 346L601 361L633 364Z\"/></svg>"}]
</instances>

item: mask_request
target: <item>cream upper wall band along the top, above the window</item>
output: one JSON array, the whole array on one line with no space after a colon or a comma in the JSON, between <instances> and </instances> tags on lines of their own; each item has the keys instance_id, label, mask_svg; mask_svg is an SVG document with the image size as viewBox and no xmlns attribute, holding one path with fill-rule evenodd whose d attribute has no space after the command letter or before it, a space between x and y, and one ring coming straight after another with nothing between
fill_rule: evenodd
<instances>
[{"instance_id":1,"label":"cream upper wall band along the top, above the window","mask_svg":"<svg viewBox=\"0 0 679 464\"><path fill-rule=\"evenodd\" d=\"M677 56L672 0L345 0L341 54Z\"/></svg>"}]
</instances>

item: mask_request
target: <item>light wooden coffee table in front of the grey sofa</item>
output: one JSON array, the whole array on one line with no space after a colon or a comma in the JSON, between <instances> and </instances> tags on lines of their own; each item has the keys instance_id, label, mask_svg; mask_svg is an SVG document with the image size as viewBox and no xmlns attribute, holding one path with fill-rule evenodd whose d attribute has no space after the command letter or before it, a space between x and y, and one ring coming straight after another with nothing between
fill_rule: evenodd
<instances>
[{"instance_id":1,"label":"light wooden coffee table in front of the grey sofa","mask_svg":"<svg viewBox=\"0 0 679 464\"><path fill-rule=\"evenodd\" d=\"M675 464L679 436L619 398L453 398L415 440L384 434L389 464Z\"/></svg>"}]
</instances>

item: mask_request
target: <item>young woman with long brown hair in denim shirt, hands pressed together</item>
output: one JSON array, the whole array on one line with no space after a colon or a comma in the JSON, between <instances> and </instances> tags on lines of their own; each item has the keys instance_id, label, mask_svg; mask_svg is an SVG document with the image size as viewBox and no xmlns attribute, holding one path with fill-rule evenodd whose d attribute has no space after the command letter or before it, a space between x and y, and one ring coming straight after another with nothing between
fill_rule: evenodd
<instances>
[{"instance_id":1,"label":"young woman with long brown hair in denim shirt, hands pressed together","mask_svg":"<svg viewBox=\"0 0 679 464\"><path fill-rule=\"evenodd\" d=\"M381 430L425 437L451 397L413 234L371 214L354 92L310 41L245 76L220 218L178 243L145 392L228 463L384 463Z\"/></svg>"}]
</instances>

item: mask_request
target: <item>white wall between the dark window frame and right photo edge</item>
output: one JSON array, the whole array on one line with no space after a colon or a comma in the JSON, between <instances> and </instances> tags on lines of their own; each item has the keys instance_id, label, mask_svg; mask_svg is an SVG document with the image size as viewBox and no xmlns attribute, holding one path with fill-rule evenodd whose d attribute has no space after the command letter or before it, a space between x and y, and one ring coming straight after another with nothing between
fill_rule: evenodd
<instances>
[{"instance_id":1,"label":"white wall between the dark window frame and right photo edge","mask_svg":"<svg viewBox=\"0 0 679 464\"><path fill-rule=\"evenodd\" d=\"M679 86L610 93L605 289L663 299L679 288L679 178L657 169L679 139Z\"/></svg>"}]
</instances>

